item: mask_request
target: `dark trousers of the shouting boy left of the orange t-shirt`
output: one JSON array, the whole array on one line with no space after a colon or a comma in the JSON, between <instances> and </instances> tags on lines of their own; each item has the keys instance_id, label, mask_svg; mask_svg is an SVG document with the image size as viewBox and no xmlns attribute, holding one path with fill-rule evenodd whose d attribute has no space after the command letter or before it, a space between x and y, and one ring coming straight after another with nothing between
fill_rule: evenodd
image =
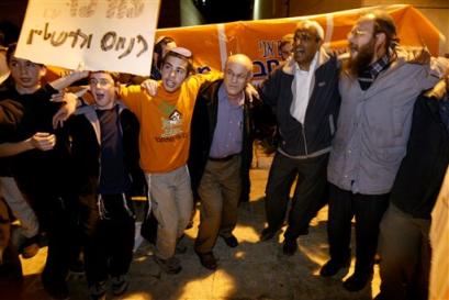
<instances>
[{"instance_id":1,"label":"dark trousers of the shouting boy left of the orange t-shirt","mask_svg":"<svg viewBox=\"0 0 449 300\"><path fill-rule=\"evenodd\" d=\"M125 275L133 259L134 216L122 195L102 196L100 215L97 196L80 197L80 223L85 244L88 285Z\"/></svg>"}]
</instances>

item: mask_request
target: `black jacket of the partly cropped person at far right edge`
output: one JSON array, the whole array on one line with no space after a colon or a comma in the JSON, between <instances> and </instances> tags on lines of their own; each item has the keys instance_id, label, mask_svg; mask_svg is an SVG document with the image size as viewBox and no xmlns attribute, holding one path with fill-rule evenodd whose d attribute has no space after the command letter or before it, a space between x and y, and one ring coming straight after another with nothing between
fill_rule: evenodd
<instances>
[{"instance_id":1,"label":"black jacket of the partly cropped person at far right edge","mask_svg":"<svg viewBox=\"0 0 449 300\"><path fill-rule=\"evenodd\" d=\"M419 219L430 219L449 164L449 132L437 98L435 92L424 93L414 105L407 154L391 191L394 205Z\"/></svg>"}]
</instances>

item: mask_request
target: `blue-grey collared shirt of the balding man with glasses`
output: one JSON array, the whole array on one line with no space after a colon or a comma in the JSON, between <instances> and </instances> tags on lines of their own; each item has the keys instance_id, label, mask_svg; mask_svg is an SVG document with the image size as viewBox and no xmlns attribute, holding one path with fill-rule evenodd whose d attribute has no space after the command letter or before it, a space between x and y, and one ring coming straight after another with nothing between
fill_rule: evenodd
<instances>
[{"instance_id":1,"label":"blue-grey collared shirt of the balding man with glasses","mask_svg":"<svg viewBox=\"0 0 449 300\"><path fill-rule=\"evenodd\" d=\"M242 152L244 126L244 100L238 105L227 99L224 85L218 89L218 113L210 157L221 158Z\"/></svg>"}]
</instances>

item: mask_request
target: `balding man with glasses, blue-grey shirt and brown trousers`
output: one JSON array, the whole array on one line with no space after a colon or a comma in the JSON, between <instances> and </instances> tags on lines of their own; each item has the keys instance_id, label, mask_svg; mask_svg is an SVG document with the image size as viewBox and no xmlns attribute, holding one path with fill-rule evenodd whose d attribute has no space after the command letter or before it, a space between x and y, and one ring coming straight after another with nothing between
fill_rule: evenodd
<instances>
[{"instance_id":1,"label":"balding man with glasses, blue-grey shirt and brown trousers","mask_svg":"<svg viewBox=\"0 0 449 300\"><path fill-rule=\"evenodd\" d=\"M229 56L224 78L201 86L193 110L189 171L201 199L194 249L207 269L217 267L212 249L218 236L229 247L238 245L233 230L243 175L251 162L254 121L261 108L245 95L251 77L248 56Z\"/></svg>"}]
</instances>

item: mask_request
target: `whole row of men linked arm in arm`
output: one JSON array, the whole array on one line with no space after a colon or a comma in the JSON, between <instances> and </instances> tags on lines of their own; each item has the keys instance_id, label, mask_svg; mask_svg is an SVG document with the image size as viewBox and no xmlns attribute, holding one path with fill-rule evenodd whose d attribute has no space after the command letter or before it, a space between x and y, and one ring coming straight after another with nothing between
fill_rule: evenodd
<instances>
[{"instance_id":1,"label":"whole row of men linked arm in arm","mask_svg":"<svg viewBox=\"0 0 449 300\"><path fill-rule=\"evenodd\" d=\"M356 267L343 287L369 285L379 253L378 300L427 299L430 211L449 164L448 60L402 48L383 11L356 22L345 58L323 46L315 21L299 22L282 48L289 43L285 63L257 90L246 55L227 57L223 73L195 74L192 53L169 37L156 43L151 78L130 86L105 70L43 86L45 66L8 48L0 193L24 227L23 254L46 233L42 284L53 298L68 298L65 278L80 252L91 299L105 299L108 287L126 291L133 196L148 196L154 260L168 274L182 269L179 241L199 199L194 252L216 269L218 236L238 246L233 231L249 192L252 142L276 124L260 241L277 236L287 218L283 254L294 255L328 203L329 260L321 276L348 267L355 216ZM90 97L66 90L86 79ZM2 213L0 223L9 222ZM0 262L13 260L13 247L3 248Z\"/></svg>"}]
</instances>

